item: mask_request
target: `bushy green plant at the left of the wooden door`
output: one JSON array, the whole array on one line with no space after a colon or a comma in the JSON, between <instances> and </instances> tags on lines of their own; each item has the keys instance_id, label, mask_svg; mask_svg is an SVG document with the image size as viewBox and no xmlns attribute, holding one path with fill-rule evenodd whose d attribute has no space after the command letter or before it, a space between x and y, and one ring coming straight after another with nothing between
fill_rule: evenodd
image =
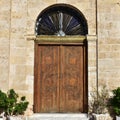
<instances>
[{"instance_id":1,"label":"bushy green plant at the left of the wooden door","mask_svg":"<svg viewBox=\"0 0 120 120\"><path fill-rule=\"evenodd\" d=\"M25 96L18 98L18 94L13 89L8 90L7 93L0 90L0 111L1 113L4 112L7 120L14 119L13 116L23 115L28 107L29 102L26 101Z\"/></svg>"}]
</instances>

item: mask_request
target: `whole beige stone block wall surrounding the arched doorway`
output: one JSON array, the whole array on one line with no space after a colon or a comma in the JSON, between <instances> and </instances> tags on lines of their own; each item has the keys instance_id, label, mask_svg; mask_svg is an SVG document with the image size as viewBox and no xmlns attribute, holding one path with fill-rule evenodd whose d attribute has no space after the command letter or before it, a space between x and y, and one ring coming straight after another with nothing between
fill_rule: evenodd
<instances>
[{"instance_id":1,"label":"whole beige stone block wall surrounding the arched doorway","mask_svg":"<svg viewBox=\"0 0 120 120\"><path fill-rule=\"evenodd\" d=\"M97 78L98 85L106 84L110 90L118 87L120 1L97 1L98 6L96 0L0 0L0 89L6 91L14 88L20 95L27 96L32 107L34 41L30 39L35 35L35 22L39 13L46 7L59 3L73 5L87 19L89 91L97 86Z\"/></svg>"}]
</instances>

